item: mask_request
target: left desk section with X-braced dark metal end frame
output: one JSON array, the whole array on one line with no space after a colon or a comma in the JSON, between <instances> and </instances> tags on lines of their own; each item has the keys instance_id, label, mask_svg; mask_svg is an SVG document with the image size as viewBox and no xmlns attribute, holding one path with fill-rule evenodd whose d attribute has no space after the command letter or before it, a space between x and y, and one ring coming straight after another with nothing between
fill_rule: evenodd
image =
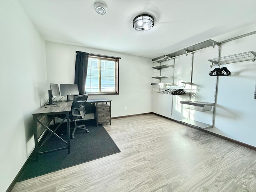
<instances>
[{"instance_id":1,"label":"left desk section with X-braced dark metal end frame","mask_svg":"<svg viewBox=\"0 0 256 192\"><path fill-rule=\"evenodd\" d=\"M36 112L32 113L33 115L33 127L34 127L34 140L35 140L35 151L36 151L36 159L38 158L38 154L46 153L46 152L52 152L56 150L62 150L62 149L68 149L68 153L70 153L70 126L69 126L69 112L71 110L72 101L70 102L61 102L58 105L47 105L43 106ZM55 128L54 130L51 130L49 128L50 122L54 120L54 117L59 114L66 115L65 118L62 120L60 124ZM47 116L47 120L45 118ZM58 136L55 132L60 127L60 125L64 122L64 120L67 120L67 131L68 131L68 140L63 140L60 136ZM50 132L50 134L44 139L44 141L38 145L38 139L40 138L41 134L38 134L38 125L41 125L43 130L46 130ZM55 122L54 122L55 125ZM49 140L49 138L54 135L57 138L59 138L62 142L64 142L67 146L63 148L57 148L53 150L48 151L40 151L41 147Z\"/></svg>"}]
</instances>

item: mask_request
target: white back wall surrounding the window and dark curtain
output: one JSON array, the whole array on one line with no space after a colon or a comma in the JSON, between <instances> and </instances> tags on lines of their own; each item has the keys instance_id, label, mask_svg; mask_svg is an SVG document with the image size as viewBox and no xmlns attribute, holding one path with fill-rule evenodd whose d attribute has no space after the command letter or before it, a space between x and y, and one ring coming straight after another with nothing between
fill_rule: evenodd
<instances>
[{"instance_id":1,"label":"white back wall surrounding the window and dark curtain","mask_svg":"<svg viewBox=\"0 0 256 192\"><path fill-rule=\"evenodd\" d=\"M149 58L46 41L48 84L74 84L76 51L121 57L119 95L89 96L88 99L111 99L112 117L152 112L152 63Z\"/></svg>"}]
</instances>

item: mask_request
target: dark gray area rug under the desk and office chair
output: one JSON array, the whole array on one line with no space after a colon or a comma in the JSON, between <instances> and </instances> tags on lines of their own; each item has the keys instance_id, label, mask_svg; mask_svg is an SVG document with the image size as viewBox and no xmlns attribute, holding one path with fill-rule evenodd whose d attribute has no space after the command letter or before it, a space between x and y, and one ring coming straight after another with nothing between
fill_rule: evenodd
<instances>
[{"instance_id":1,"label":"dark gray area rug under the desk and office chair","mask_svg":"<svg viewBox=\"0 0 256 192\"><path fill-rule=\"evenodd\" d=\"M18 181L34 178L120 152L118 146L116 146L102 125L96 127L95 122L83 122L83 124L86 125L89 133L85 133L84 130L76 130L74 134L75 138L70 139L70 154L65 149L40 154L38 161L32 157ZM70 126L72 125L71 122ZM63 126L62 129L65 130L65 127ZM66 139L66 137L67 135L64 133L62 138ZM61 146L64 147L65 145L58 138L52 136L44 149L52 148L52 146L58 148Z\"/></svg>"}]
</instances>

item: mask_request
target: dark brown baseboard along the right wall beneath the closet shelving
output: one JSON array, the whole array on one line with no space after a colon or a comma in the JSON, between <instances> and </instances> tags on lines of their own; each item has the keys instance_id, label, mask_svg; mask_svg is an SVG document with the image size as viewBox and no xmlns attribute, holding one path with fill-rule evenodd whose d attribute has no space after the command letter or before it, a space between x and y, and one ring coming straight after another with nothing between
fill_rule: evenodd
<instances>
[{"instance_id":1,"label":"dark brown baseboard along the right wall beneath the closet shelving","mask_svg":"<svg viewBox=\"0 0 256 192\"><path fill-rule=\"evenodd\" d=\"M198 128L198 127L196 127L196 126L189 125L189 124L180 122L180 121L178 121L178 120L174 120L174 119L172 119L172 118L168 118L168 117L162 116L162 115L160 115L160 114L156 114L156 113L154 113L154 112L152 112L152 114L158 115L158 116L160 116L160 117L163 117L163 118L172 120L172 121L174 121L174 122L177 122L177 123L186 125L186 126L188 126L188 127L194 128L194 129L196 129L196 130L199 130L199 131L208 133L208 134L210 134L210 135L216 136L216 137L218 137L218 138L222 138L222 139L224 139L224 140L230 141L230 142L232 142L232 143L235 143L235 144L238 144L238 145L241 145L241 146L244 146L244 147L246 147L246 148L249 148L249 149L252 149L252 150L255 150L255 151L256 151L256 147L251 146L251 145L248 145L248 144L246 144L246 143L243 143L243 142L240 142L240 141L237 141L237 140L234 140L234 139L230 139L230 138L228 138L228 137L225 137L225 136L222 136L222 135L219 135L219 134L210 132L210 131L208 131L208 130L206 130L206 129Z\"/></svg>"}]
</instances>

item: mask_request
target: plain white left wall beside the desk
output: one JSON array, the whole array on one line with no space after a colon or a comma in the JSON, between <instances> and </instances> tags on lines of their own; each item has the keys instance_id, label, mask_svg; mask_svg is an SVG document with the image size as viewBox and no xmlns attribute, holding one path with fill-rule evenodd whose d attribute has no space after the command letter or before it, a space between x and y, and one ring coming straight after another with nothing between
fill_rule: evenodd
<instances>
[{"instance_id":1,"label":"plain white left wall beside the desk","mask_svg":"<svg viewBox=\"0 0 256 192\"><path fill-rule=\"evenodd\" d=\"M16 0L0 1L0 191L34 148L32 112L46 96L45 44Z\"/></svg>"}]
</instances>

